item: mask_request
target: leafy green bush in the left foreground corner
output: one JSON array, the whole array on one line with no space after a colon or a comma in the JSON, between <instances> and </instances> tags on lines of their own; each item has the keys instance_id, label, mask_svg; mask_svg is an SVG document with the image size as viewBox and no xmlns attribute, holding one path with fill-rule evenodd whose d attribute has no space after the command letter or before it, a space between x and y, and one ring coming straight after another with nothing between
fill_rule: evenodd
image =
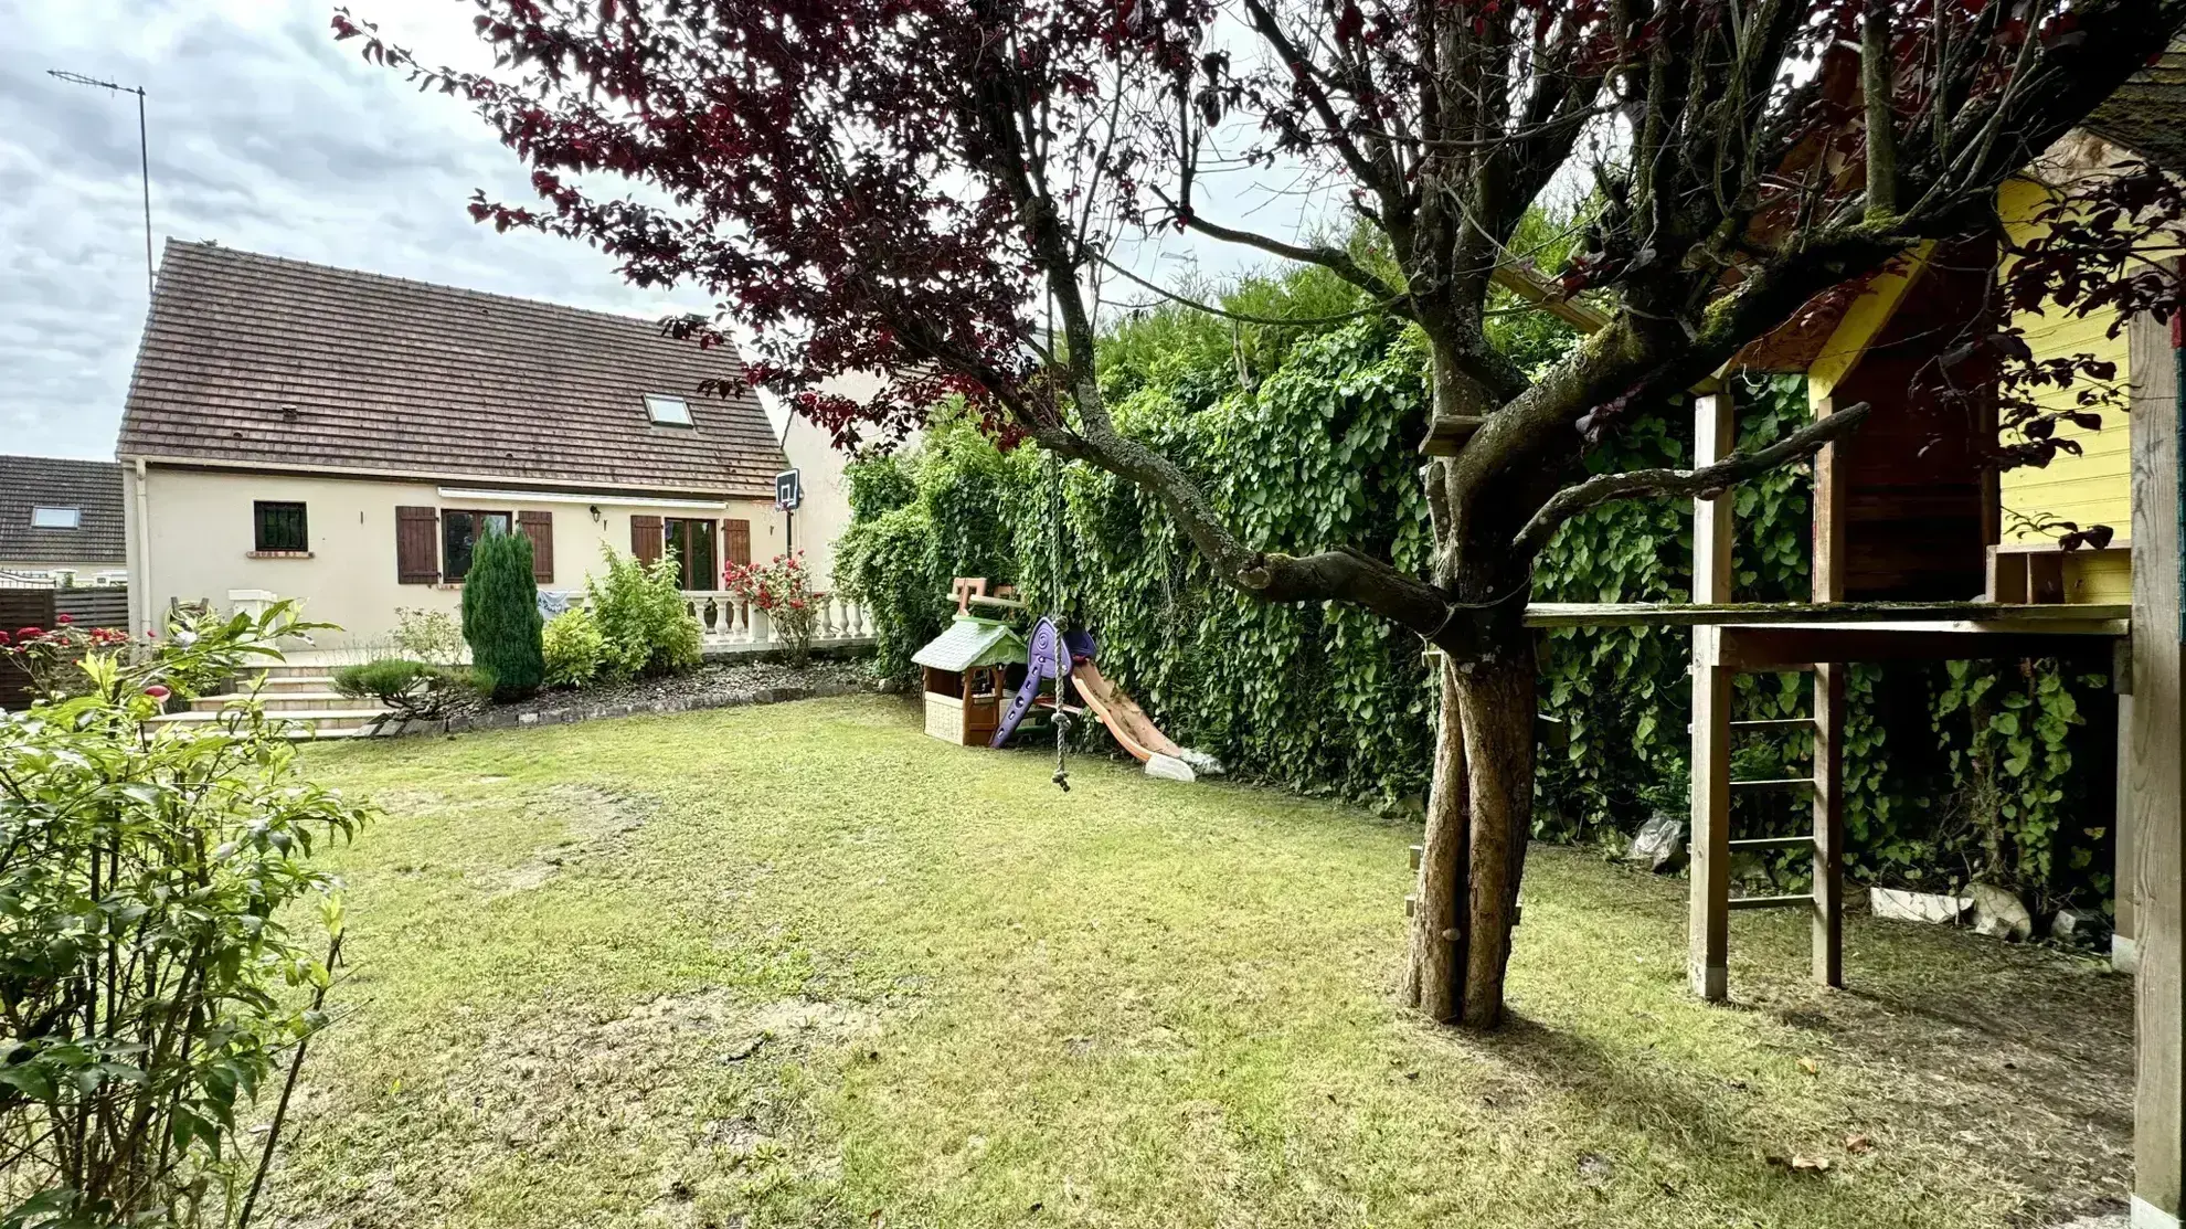
<instances>
[{"instance_id":1,"label":"leafy green bush in the left foreground corner","mask_svg":"<svg viewBox=\"0 0 2186 1229\"><path fill-rule=\"evenodd\" d=\"M243 1131L326 1026L339 881L369 818L299 772L256 700L144 726L177 676L278 663L291 604L186 617L90 693L0 713L0 1225L234 1225L275 1155Z\"/></svg>"}]
</instances>

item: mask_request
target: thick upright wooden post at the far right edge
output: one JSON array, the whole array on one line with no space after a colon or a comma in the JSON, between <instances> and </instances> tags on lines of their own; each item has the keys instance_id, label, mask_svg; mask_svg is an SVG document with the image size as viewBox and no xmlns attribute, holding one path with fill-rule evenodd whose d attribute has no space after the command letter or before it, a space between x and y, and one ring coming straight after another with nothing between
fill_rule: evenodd
<instances>
[{"instance_id":1,"label":"thick upright wooden post at the far right edge","mask_svg":"<svg viewBox=\"0 0 2186 1229\"><path fill-rule=\"evenodd\" d=\"M2179 1074L2186 1069L2186 980L2179 969L2179 879L2186 879L2179 746L2179 367L2169 328L2127 330L2134 405L2134 1225L2179 1222L2186 1187Z\"/></svg>"}]
</instances>

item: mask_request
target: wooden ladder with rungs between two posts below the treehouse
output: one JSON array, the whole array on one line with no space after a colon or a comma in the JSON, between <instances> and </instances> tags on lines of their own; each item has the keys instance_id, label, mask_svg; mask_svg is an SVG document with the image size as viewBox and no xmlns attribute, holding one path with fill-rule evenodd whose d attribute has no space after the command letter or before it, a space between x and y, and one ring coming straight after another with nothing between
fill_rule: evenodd
<instances>
[{"instance_id":1,"label":"wooden ladder with rungs between two posts below the treehouse","mask_svg":"<svg viewBox=\"0 0 2186 1229\"><path fill-rule=\"evenodd\" d=\"M1819 407L1827 413L1827 407ZM1720 461L1738 442L1738 409L1729 385L1694 398L1694 466ZM1814 601L1843 601L1843 488L1836 448L1814 457ZM1692 599L1731 601L1731 499L1692 501ZM1731 910L1806 908L1814 918L1814 980L1845 984L1845 667L1810 663L1814 706L1808 717L1731 719L1731 678L1723 660L1723 628L1692 630L1692 916L1688 978L1703 999L1729 995ZM1731 781L1736 730L1812 728L1814 774ZM1731 792L1808 787L1814 798L1810 835L1731 840ZM1731 899L1731 853L1808 848L1814 888L1790 897Z\"/></svg>"}]
</instances>

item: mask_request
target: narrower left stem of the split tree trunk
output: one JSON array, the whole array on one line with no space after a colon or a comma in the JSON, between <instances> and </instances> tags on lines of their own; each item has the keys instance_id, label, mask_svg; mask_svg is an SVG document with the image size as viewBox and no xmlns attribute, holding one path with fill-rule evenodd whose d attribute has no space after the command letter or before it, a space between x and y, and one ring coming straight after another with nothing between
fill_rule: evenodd
<instances>
[{"instance_id":1,"label":"narrower left stem of the split tree trunk","mask_svg":"<svg viewBox=\"0 0 2186 1229\"><path fill-rule=\"evenodd\" d=\"M1434 737L1434 783L1427 789L1427 835L1412 897L1412 958L1403 1002L1436 1023L1456 1023L1465 969L1465 879L1471 846L1465 722L1458 715L1456 667L1443 658L1443 704Z\"/></svg>"}]
</instances>

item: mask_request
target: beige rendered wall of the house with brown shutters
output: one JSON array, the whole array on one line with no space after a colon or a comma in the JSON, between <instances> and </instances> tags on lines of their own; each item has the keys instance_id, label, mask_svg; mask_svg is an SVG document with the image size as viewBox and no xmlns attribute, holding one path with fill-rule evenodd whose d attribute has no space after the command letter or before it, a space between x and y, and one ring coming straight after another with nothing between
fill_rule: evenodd
<instances>
[{"instance_id":1,"label":"beige rendered wall of the house with brown shutters","mask_svg":"<svg viewBox=\"0 0 2186 1229\"><path fill-rule=\"evenodd\" d=\"M466 494L472 490L496 494ZM308 558L254 558L251 505L260 499L304 503ZM630 553L632 516L750 520L754 558L780 551L785 531L772 503L748 499L512 496L507 479L348 479L146 466L142 479L129 475L131 628L142 632L173 601L210 599L225 608L234 590L302 599L304 617L343 628L321 634L324 645L385 641L402 606L459 612L459 584L398 582L396 507L551 514L555 575L540 588L553 590L581 590L586 575L601 566L601 547ZM719 577L706 588L715 586Z\"/></svg>"}]
</instances>

